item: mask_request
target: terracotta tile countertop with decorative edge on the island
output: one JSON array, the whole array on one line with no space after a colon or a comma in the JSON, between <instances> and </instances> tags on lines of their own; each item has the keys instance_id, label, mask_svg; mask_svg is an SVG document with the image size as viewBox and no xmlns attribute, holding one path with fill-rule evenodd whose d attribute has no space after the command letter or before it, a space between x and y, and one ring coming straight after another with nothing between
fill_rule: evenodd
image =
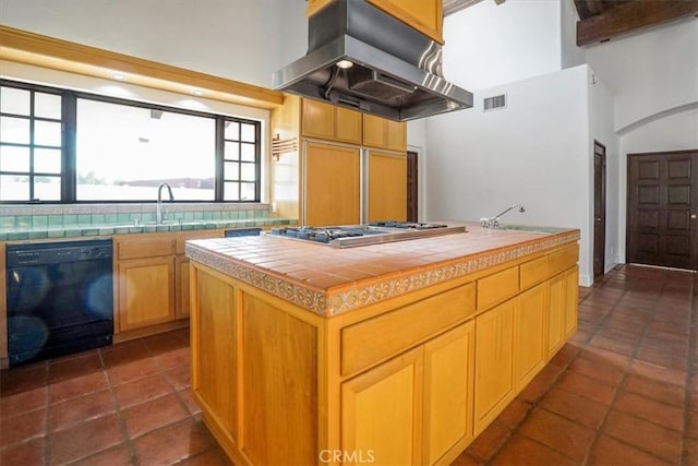
<instances>
[{"instance_id":1,"label":"terracotta tile countertop with decorative edge on the island","mask_svg":"<svg viewBox=\"0 0 698 466\"><path fill-rule=\"evenodd\" d=\"M484 229L347 249L270 235L186 241L186 255L321 315L336 315L579 240Z\"/></svg>"}]
</instances>

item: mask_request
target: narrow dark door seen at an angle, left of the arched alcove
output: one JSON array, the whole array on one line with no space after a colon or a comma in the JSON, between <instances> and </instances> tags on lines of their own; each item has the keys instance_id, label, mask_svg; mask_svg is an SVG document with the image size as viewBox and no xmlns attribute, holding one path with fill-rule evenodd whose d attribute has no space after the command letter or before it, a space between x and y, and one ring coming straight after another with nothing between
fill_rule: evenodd
<instances>
[{"instance_id":1,"label":"narrow dark door seen at an angle, left of the arched alcove","mask_svg":"<svg viewBox=\"0 0 698 466\"><path fill-rule=\"evenodd\" d=\"M606 253L606 147L593 142L593 276L605 272Z\"/></svg>"}]
</instances>

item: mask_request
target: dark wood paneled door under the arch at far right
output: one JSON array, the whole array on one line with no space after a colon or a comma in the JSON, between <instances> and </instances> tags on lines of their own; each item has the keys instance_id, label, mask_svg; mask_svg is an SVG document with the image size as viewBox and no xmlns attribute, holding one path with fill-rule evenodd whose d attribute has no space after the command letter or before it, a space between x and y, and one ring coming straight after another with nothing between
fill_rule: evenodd
<instances>
[{"instance_id":1,"label":"dark wood paneled door under the arch at far right","mask_svg":"<svg viewBox=\"0 0 698 466\"><path fill-rule=\"evenodd\" d=\"M627 262L698 270L698 151L628 155Z\"/></svg>"}]
</instances>

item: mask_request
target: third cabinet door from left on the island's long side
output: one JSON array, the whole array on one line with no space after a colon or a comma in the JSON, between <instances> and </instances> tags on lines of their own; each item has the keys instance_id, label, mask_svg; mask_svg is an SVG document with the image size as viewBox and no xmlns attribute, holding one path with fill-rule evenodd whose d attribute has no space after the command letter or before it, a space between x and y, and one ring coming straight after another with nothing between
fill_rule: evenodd
<instances>
[{"instance_id":1,"label":"third cabinet door from left on the island's long side","mask_svg":"<svg viewBox=\"0 0 698 466\"><path fill-rule=\"evenodd\" d=\"M474 434L514 397L514 308L504 302L476 319Z\"/></svg>"}]
</instances>

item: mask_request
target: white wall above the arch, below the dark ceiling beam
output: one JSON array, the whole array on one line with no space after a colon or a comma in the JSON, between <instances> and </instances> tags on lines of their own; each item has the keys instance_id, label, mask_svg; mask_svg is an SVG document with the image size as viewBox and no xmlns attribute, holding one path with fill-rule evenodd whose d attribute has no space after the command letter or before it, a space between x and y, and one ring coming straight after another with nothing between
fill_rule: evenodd
<instances>
[{"instance_id":1,"label":"white wall above the arch, below the dark ceiling beam","mask_svg":"<svg viewBox=\"0 0 698 466\"><path fill-rule=\"evenodd\" d=\"M698 101L698 19L591 45L587 59L615 97L616 131Z\"/></svg>"}]
</instances>

